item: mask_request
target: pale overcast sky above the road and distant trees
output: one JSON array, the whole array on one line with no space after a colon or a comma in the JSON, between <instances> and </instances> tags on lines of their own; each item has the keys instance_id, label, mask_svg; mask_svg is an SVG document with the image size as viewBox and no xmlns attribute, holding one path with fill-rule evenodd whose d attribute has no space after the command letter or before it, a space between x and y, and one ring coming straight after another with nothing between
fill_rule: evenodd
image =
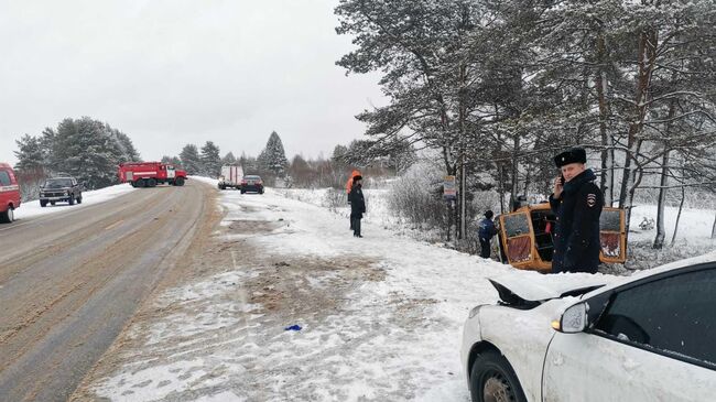
<instances>
[{"instance_id":1,"label":"pale overcast sky above the road and distant trees","mask_svg":"<svg viewBox=\"0 0 716 402\"><path fill-rule=\"evenodd\" d=\"M144 160L207 140L286 156L360 138L378 75L345 76L337 0L0 0L0 162L67 117L127 133Z\"/></svg>"}]
</instances>

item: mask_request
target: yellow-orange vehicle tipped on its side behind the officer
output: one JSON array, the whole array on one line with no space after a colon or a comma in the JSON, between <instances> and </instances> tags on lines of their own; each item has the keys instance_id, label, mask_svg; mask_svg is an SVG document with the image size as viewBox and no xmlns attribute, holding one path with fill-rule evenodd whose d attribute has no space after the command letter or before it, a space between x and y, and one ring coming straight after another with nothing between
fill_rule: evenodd
<instances>
[{"instance_id":1,"label":"yellow-orange vehicle tipped on its side behind the officer","mask_svg":"<svg viewBox=\"0 0 716 402\"><path fill-rule=\"evenodd\" d=\"M551 272L552 232L556 216L550 203L534 204L498 216L498 247L500 260L521 269ZM625 210L604 207L599 218L599 259L606 263L627 260L627 232Z\"/></svg>"}]
</instances>

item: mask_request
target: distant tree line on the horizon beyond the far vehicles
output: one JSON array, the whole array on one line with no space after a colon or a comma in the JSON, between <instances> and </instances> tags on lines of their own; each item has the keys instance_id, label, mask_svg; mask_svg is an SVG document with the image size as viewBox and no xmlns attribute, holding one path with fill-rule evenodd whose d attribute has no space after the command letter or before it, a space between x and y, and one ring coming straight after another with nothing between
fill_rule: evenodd
<instances>
[{"instance_id":1,"label":"distant tree line on the horizon beyond the far vehicles","mask_svg":"<svg viewBox=\"0 0 716 402\"><path fill-rule=\"evenodd\" d=\"M113 185L119 180L120 163L142 161L128 134L89 117L64 119L56 128L45 128L39 135L24 134L15 143L15 170L23 199L35 199L45 178L61 174L76 177L88 189ZM289 162L281 138L273 131L258 156L243 152L237 157L227 152L221 157L219 146L206 141L200 149L186 144L178 155L165 155L162 162L182 167L191 175L218 177L223 165L238 164L246 174L259 174L270 185L281 181L284 185L302 187L340 187L354 166L384 175L394 164L393 160L347 156L359 155L356 150L362 145L354 141L347 146L336 145L329 157L305 159L299 154Z\"/></svg>"}]
</instances>

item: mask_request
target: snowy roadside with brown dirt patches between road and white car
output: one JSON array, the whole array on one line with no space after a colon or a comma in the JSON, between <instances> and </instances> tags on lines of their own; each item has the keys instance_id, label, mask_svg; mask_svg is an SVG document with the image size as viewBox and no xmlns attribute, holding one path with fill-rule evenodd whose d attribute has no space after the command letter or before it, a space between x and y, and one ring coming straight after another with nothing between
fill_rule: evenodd
<instances>
[{"instance_id":1,"label":"snowy roadside with brown dirt patches between road and white car","mask_svg":"<svg viewBox=\"0 0 716 402\"><path fill-rule=\"evenodd\" d=\"M78 399L468 401L459 339L468 311L497 297L486 276L578 276L397 237L377 204L357 239L318 192L283 194L221 192L203 275L142 312Z\"/></svg>"}]
</instances>

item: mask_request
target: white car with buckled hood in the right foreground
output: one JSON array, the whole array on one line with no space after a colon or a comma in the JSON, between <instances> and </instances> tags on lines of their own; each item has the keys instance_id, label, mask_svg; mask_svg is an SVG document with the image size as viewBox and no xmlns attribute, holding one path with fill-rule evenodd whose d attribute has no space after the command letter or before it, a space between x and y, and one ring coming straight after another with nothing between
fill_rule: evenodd
<instances>
[{"instance_id":1,"label":"white car with buckled hood in the right foreground","mask_svg":"<svg viewBox=\"0 0 716 402\"><path fill-rule=\"evenodd\" d=\"M500 302L473 308L463 334L473 401L714 400L716 258L491 283Z\"/></svg>"}]
</instances>

